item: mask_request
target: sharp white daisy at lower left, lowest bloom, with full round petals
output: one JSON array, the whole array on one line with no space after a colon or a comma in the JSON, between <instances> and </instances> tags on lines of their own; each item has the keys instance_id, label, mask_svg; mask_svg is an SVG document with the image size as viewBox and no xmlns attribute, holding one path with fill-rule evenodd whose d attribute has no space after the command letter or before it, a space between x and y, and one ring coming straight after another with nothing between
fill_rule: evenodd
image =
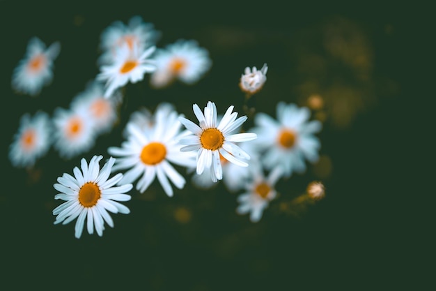
<instances>
[{"instance_id":1,"label":"sharp white daisy at lower left, lowest bloom, with full round petals","mask_svg":"<svg viewBox=\"0 0 436 291\"><path fill-rule=\"evenodd\" d=\"M123 174L118 173L109 178L115 158L109 158L100 170L99 162L102 156L93 156L89 165L84 158L81 159L81 171L79 167L73 169L74 177L64 173L58 177L59 184L54 188L60 193L54 199L64 200L62 204L53 209L56 215L54 224L67 224L77 218L75 225L75 237L79 239L83 232L86 218L86 229L93 234L94 228L97 234L102 237L104 222L114 227L109 212L129 214L130 209L117 201L129 201L131 196L125 194L132 189L132 184L115 186ZM109 211L109 212L108 212Z\"/></svg>"}]
</instances>

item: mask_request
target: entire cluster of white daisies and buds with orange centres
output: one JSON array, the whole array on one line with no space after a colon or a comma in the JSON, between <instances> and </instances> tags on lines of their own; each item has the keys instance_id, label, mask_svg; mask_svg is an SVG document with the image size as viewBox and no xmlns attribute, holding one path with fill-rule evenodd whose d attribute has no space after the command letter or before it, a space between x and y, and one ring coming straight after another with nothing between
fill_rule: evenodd
<instances>
[{"instance_id":1,"label":"entire cluster of white daisies and buds with orange centres","mask_svg":"<svg viewBox=\"0 0 436 291\"><path fill-rule=\"evenodd\" d=\"M16 167L33 167L53 145L60 156L72 158L90 151L95 137L108 133L118 120L118 105L127 83L143 80L150 74L156 89L180 80L195 84L210 70L208 50L195 40L178 40L164 48L156 43L162 33L153 24L132 17L128 24L114 22L101 34L102 54L97 64L100 73L77 94L69 109L57 108L52 118L38 111L26 113L10 144L10 161ZM13 74L13 87L35 96L52 80L53 61L60 45L47 49L42 41L29 42L26 58ZM266 82L267 65L260 70L245 68L240 89L251 96ZM162 102L154 110L140 108L130 114L123 128L123 142L107 148L109 158L100 169L103 156L93 156L72 174L63 174L54 188L55 199L63 200L53 210L55 224L76 219L75 237L81 237L86 221L89 234L102 236L105 223L114 227L112 214L128 214L124 204L132 188L144 193L157 180L162 192L174 195L190 177L197 188L208 189L223 181L228 191L241 192L238 214L249 214L252 222L263 216L277 196L275 186L293 172L302 173L306 163L318 160L320 141L316 137L322 124L309 120L310 111L295 104L278 103L275 117L263 112L254 116L254 127L244 128L247 116L239 116L234 106L218 114L209 101L203 110L193 104L196 121ZM111 177L111 175L113 175ZM323 195L322 184L311 186L313 197ZM318 195L318 196L317 196Z\"/></svg>"}]
</instances>

